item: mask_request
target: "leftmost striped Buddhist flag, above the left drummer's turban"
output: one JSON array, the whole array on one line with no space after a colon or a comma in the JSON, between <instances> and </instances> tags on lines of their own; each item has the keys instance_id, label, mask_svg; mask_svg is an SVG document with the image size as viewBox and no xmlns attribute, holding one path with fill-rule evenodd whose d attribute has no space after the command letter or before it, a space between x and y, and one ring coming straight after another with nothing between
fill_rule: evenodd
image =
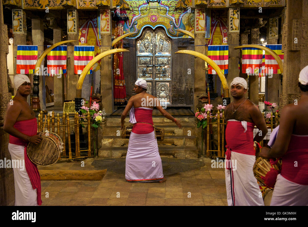
<instances>
[{"instance_id":1,"label":"leftmost striped Buddhist flag, above the left drummer's turban","mask_svg":"<svg viewBox=\"0 0 308 227\"><path fill-rule=\"evenodd\" d=\"M38 46L17 45L16 73L34 73L36 61L38 60Z\"/></svg>"}]
</instances>

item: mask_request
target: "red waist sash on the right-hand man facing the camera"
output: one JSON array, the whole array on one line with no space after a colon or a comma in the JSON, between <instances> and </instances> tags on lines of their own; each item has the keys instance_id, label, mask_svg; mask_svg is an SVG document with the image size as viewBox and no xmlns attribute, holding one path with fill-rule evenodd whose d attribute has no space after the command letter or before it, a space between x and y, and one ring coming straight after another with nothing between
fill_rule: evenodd
<instances>
[{"instance_id":1,"label":"red waist sash on the right-hand man facing the camera","mask_svg":"<svg viewBox=\"0 0 308 227\"><path fill-rule=\"evenodd\" d=\"M253 127L254 123L247 122L247 131L244 132L245 129L241 122L228 121L226 127L227 160L231 158L231 151L244 155L256 154L253 149Z\"/></svg>"}]
</instances>

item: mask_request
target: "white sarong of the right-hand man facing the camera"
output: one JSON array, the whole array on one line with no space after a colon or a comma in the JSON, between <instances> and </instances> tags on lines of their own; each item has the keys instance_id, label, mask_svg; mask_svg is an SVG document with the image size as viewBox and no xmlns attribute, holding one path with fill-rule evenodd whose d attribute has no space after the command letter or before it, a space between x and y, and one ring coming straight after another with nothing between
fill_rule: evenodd
<instances>
[{"instance_id":1,"label":"white sarong of the right-hand man facing the camera","mask_svg":"<svg viewBox=\"0 0 308 227\"><path fill-rule=\"evenodd\" d=\"M261 190L253 175L256 156L231 151L231 160L230 170L225 166L228 206L264 206Z\"/></svg>"}]
</instances>

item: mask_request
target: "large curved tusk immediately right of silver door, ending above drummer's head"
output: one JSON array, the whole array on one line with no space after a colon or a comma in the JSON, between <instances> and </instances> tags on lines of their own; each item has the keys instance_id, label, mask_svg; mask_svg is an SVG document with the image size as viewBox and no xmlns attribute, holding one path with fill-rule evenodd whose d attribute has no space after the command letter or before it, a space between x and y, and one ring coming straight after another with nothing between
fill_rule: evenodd
<instances>
[{"instance_id":1,"label":"large curved tusk immediately right of silver door, ending above drummer's head","mask_svg":"<svg viewBox=\"0 0 308 227\"><path fill-rule=\"evenodd\" d=\"M229 97L229 87L228 87L228 83L227 80L224 76L224 74L222 74L221 69L219 68L219 66L213 61L211 60L208 56L201 54L197 51L191 51L191 50L180 50L175 52L176 54L178 53L182 53L182 54L191 54L193 56L196 56L198 58L201 58L202 60L204 60L206 63L208 63L210 66L213 67L213 69L217 72L217 75L219 76L220 80L221 80L221 84L224 90L224 96L225 97Z\"/></svg>"}]
</instances>

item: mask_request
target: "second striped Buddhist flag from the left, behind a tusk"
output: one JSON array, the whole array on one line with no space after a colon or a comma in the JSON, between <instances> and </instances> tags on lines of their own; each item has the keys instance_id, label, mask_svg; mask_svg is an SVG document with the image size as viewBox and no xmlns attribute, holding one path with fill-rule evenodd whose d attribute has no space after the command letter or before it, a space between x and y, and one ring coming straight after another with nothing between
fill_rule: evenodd
<instances>
[{"instance_id":1,"label":"second striped Buddhist flag from the left, behind a tusk","mask_svg":"<svg viewBox=\"0 0 308 227\"><path fill-rule=\"evenodd\" d=\"M50 47L50 46L47 46ZM57 46L47 54L49 76L66 74L67 46Z\"/></svg>"}]
</instances>

